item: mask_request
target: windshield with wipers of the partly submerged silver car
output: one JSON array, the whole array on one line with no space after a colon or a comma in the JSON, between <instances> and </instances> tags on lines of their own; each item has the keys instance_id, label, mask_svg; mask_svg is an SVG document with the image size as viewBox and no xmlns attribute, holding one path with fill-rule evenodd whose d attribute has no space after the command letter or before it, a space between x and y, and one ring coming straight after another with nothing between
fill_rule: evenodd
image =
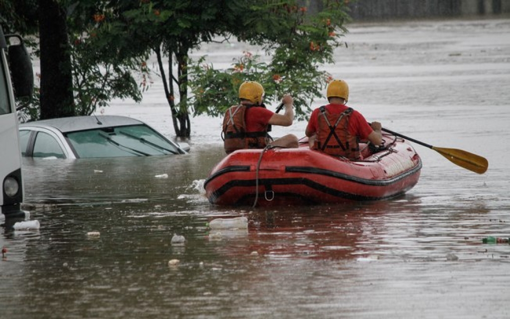
<instances>
[{"instance_id":1,"label":"windshield with wipers of the partly submerged silver car","mask_svg":"<svg viewBox=\"0 0 510 319\"><path fill-rule=\"evenodd\" d=\"M118 157L179 154L180 151L146 125L118 126L66 135L78 157Z\"/></svg>"}]
</instances>

